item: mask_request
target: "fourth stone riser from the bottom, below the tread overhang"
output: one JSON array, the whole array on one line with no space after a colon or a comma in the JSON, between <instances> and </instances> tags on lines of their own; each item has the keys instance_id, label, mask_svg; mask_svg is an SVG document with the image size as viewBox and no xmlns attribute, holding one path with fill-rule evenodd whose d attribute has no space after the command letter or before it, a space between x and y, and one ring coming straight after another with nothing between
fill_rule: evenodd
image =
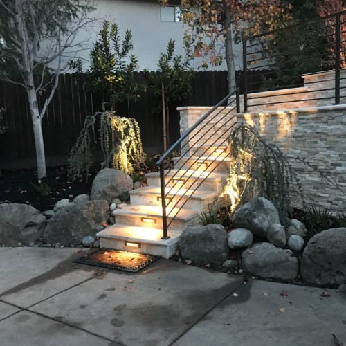
<instances>
[{"instance_id":1,"label":"fourth stone riser from the bottom, below the tread overhang","mask_svg":"<svg viewBox=\"0 0 346 346\"><path fill-rule=\"evenodd\" d=\"M208 174L208 173L207 173ZM165 178L165 181L169 181L170 177ZM179 179L179 178L176 178ZM185 183L174 183L173 181L170 181L168 183L169 188L184 188L184 189L192 189L197 188L199 183L201 183L201 180L203 178L190 178L185 181ZM226 179L224 179L224 184L226 183ZM147 177L147 184L148 186L152 187L160 187L160 178L156 177ZM222 192L222 188L224 185L221 184L221 181L213 181L212 179L206 179L201 183L199 188L197 190L208 190L208 191L215 191L217 194L220 194Z\"/></svg>"}]
</instances>

